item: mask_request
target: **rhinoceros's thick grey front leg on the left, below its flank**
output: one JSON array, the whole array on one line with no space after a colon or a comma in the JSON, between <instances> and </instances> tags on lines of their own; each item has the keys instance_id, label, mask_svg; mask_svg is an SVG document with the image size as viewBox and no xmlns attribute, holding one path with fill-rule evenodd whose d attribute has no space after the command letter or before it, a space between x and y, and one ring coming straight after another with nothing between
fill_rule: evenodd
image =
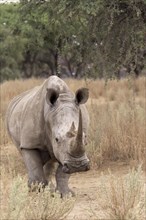
<instances>
[{"instance_id":1,"label":"rhinoceros's thick grey front leg on the left, below its flank","mask_svg":"<svg viewBox=\"0 0 146 220\"><path fill-rule=\"evenodd\" d=\"M28 171L28 186L32 184L43 184L47 185L48 182L45 178L43 171L43 162L38 150L21 150L22 157L24 159L27 171Z\"/></svg>"}]
</instances>

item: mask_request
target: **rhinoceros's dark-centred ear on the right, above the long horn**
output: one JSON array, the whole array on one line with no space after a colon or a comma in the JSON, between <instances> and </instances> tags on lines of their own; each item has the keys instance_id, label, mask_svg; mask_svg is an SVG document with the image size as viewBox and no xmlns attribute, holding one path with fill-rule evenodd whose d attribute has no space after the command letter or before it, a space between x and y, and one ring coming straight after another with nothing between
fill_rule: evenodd
<instances>
[{"instance_id":1,"label":"rhinoceros's dark-centred ear on the right, above the long horn","mask_svg":"<svg viewBox=\"0 0 146 220\"><path fill-rule=\"evenodd\" d=\"M89 90L87 88L81 88L76 91L75 99L77 104L84 104L89 98Z\"/></svg>"}]
</instances>

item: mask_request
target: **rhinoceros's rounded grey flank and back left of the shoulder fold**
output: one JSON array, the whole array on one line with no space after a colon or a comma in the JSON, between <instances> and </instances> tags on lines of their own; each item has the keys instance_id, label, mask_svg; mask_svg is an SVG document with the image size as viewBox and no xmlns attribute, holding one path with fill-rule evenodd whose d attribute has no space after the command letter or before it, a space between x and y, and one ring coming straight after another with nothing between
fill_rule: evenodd
<instances>
[{"instance_id":1,"label":"rhinoceros's rounded grey flank and back left of the shoulder fold","mask_svg":"<svg viewBox=\"0 0 146 220\"><path fill-rule=\"evenodd\" d=\"M40 142L38 133L40 133L44 87L45 83L18 95L8 106L7 130L17 147L32 148Z\"/></svg>"}]
</instances>

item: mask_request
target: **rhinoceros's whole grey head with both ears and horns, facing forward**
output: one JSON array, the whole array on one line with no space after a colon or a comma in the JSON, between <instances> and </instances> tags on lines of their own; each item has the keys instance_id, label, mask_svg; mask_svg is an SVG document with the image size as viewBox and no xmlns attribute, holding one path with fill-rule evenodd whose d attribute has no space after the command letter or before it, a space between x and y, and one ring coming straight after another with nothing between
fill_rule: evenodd
<instances>
[{"instance_id":1,"label":"rhinoceros's whole grey head with both ears and horns, facing forward","mask_svg":"<svg viewBox=\"0 0 146 220\"><path fill-rule=\"evenodd\" d=\"M83 117L80 104L88 100L88 89L81 88L72 93L61 93L47 89L46 103L50 140L56 159L63 165L63 171L73 173L89 169L85 153L86 135L83 132Z\"/></svg>"}]
</instances>

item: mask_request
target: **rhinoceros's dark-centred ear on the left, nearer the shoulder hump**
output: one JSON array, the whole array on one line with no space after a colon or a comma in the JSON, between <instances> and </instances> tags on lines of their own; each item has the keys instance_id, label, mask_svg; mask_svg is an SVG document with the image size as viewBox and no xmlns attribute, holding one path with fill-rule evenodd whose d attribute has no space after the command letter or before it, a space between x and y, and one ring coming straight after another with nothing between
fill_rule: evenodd
<instances>
[{"instance_id":1,"label":"rhinoceros's dark-centred ear on the left, nearer the shoulder hump","mask_svg":"<svg viewBox=\"0 0 146 220\"><path fill-rule=\"evenodd\" d=\"M48 105L54 105L59 97L59 93L55 89L48 89L46 93L46 102Z\"/></svg>"}]
</instances>

